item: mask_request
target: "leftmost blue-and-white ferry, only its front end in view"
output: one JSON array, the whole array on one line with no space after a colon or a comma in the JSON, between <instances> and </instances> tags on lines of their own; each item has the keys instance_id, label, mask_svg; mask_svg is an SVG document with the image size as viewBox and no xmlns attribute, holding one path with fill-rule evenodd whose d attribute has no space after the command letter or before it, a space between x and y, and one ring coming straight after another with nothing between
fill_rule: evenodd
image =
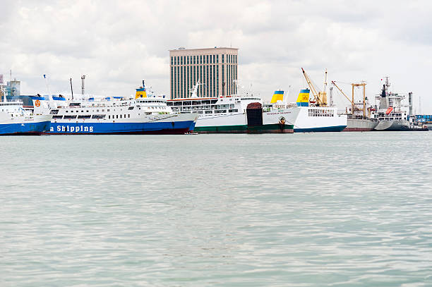
<instances>
[{"instance_id":1,"label":"leftmost blue-and-white ferry, only its front end in view","mask_svg":"<svg viewBox=\"0 0 432 287\"><path fill-rule=\"evenodd\" d=\"M0 91L1 97L4 91ZM0 135L40 135L49 130L52 116L34 115L23 108L22 101L0 102Z\"/></svg>"}]
</instances>

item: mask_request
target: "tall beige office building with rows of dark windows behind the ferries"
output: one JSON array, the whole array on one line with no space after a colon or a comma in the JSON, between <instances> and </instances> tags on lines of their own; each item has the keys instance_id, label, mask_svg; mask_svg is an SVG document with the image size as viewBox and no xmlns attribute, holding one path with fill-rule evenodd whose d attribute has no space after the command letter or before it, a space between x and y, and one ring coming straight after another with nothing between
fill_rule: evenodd
<instances>
[{"instance_id":1,"label":"tall beige office building with rows of dark windows behind the ferries","mask_svg":"<svg viewBox=\"0 0 432 287\"><path fill-rule=\"evenodd\" d=\"M236 48L169 50L171 99L191 97L196 83L198 97L236 94Z\"/></svg>"}]
</instances>

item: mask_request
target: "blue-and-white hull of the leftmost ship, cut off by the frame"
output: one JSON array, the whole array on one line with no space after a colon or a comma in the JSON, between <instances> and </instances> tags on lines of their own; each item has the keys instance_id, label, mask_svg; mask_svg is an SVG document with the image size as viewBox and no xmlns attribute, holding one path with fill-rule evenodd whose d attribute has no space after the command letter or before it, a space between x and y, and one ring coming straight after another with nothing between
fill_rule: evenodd
<instances>
[{"instance_id":1,"label":"blue-and-white hull of the leftmost ship, cut off by the frame","mask_svg":"<svg viewBox=\"0 0 432 287\"><path fill-rule=\"evenodd\" d=\"M35 116L31 121L14 119L0 122L0 135L41 135L49 130L51 116Z\"/></svg>"}]
</instances>

